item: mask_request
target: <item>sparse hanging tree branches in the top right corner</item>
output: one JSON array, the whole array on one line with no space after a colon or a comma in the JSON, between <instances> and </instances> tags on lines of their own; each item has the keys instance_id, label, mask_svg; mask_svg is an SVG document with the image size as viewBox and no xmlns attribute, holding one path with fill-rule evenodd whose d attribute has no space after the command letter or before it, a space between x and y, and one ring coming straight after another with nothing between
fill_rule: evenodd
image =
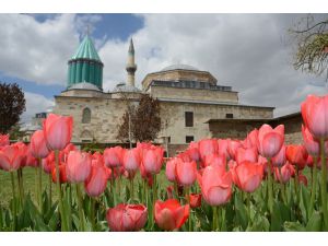
<instances>
[{"instance_id":1,"label":"sparse hanging tree branches in the top right corner","mask_svg":"<svg viewBox=\"0 0 328 246\"><path fill-rule=\"evenodd\" d=\"M316 75L326 70L328 79L328 15L308 14L290 32L297 44L294 68Z\"/></svg>"}]
</instances>

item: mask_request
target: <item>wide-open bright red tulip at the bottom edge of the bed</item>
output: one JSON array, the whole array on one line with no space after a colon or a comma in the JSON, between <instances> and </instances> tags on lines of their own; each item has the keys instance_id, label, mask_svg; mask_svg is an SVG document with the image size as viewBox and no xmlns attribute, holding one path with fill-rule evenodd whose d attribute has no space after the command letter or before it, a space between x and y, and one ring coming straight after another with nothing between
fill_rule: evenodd
<instances>
[{"instance_id":1,"label":"wide-open bright red tulip at the bottom edge of the bed","mask_svg":"<svg viewBox=\"0 0 328 246\"><path fill-rule=\"evenodd\" d=\"M176 199L157 200L154 210L156 224L165 231L179 229L189 216L189 204L181 206Z\"/></svg>"}]
</instances>

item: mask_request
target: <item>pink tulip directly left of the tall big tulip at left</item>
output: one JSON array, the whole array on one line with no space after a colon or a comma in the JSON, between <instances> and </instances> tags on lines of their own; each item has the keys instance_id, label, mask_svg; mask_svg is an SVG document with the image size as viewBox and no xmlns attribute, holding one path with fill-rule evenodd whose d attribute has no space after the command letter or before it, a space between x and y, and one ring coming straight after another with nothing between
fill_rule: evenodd
<instances>
[{"instance_id":1,"label":"pink tulip directly left of the tall big tulip at left","mask_svg":"<svg viewBox=\"0 0 328 246\"><path fill-rule=\"evenodd\" d=\"M31 153L36 159L45 159L49 154L49 150L47 148L45 134L43 130L37 130L33 133L31 138Z\"/></svg>"}]
</instances>

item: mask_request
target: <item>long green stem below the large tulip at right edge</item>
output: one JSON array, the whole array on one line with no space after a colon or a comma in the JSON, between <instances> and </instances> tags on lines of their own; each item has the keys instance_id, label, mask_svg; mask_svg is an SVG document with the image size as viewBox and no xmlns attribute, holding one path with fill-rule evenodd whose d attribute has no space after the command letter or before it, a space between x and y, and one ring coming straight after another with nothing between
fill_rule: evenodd
<instances>
[{"instance_id":1,"label":"long green stem below the large tulip at right edge","mask_svg":"<svg viewBox=\"0 0 328 246\"><path fill-rule=\"evenodd\" d=\"M328 231L328 212L327 212L327 166L325 159L325 139L320 139L320 161L321 161L321 202L325 221L325 231Z\"/></svg>"}]
</instances>

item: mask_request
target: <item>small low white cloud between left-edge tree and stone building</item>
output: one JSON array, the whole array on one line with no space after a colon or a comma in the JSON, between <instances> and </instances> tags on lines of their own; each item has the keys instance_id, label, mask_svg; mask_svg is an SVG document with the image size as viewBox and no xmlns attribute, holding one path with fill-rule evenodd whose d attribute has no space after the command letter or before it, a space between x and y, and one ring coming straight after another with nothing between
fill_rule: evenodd
<instances>
[{"instance_id":1,"label":"small low white cloud between left-edge tree and stone building","mask_svg":"<svg viewBox=\"0 0 328 246\"><path fill-rule=\"evenodd\" d=\"M26 112L23 113L21 117L22 122L31 121L31 118L40 112L46 112L47 109L54 107L54 99L46 98L44 95L24 92L26 101Z\"/></svg>"}]
</instances>

